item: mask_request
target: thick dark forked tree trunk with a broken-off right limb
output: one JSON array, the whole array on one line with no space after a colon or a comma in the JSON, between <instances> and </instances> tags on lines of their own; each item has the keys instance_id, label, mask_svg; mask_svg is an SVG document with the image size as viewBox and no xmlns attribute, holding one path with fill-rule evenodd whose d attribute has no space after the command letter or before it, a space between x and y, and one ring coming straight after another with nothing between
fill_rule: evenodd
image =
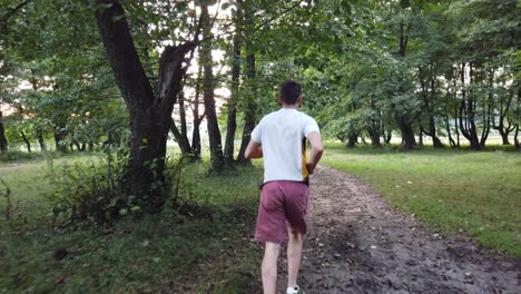
<instances>
[{"instance_id":1,"label":"thick dark forked tree trunk with a broken-off right limb","mask_svg":"<svg viewBox=\"0 0 521 294\"><path fill-rule=\"evenodd\" d=\"M195 48L186 42L166 47L159 60L157 94L148 81L130 36L122 6L117 0L98 0L98 28L116 82L129 111L130 163L122 180L128 195L145 212L158 212L165 203L166 143L171 111L186 74L185 55Z\"/></svg>"}]
</instances>

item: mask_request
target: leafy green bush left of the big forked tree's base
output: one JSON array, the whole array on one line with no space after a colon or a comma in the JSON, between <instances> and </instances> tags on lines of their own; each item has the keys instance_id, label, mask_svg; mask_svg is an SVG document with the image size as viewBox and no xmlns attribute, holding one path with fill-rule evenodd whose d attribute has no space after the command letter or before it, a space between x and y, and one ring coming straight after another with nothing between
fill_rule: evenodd
<instances>
[{"instance_id":1,"label":"leafy green bush left of the big forked tree's base","mask_svg":"<svg viewBox=\"0 0 521 294\"><path fill-rule=\"evenodd\" d=\"M48 159L52 190L45 196L52 205L53 224L85 222L105 224L135 212L132 197L120 188L128 153L107 149L102 157L90 157L55 166Z\"/></svg>"}]
</instances>

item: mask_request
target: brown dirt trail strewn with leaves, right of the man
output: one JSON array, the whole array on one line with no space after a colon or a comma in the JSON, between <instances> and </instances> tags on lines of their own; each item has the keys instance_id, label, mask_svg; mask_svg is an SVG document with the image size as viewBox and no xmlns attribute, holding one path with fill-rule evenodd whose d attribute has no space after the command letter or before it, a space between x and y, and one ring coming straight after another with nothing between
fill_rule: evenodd
<instances>
[{"instance_id":1,"label":"brown dirt trail strewn with leaves, right of the man","mask_svg":"<svg viewBox=\"0 0 521 294\"><path fill-rule=\"evenodd\" d=\"M519 259L430 232L344 171L316 170L309 218L299 275L307 294L521 293ZM285 281L282 268L281 293Z\"/></svg>"}]
</instances>

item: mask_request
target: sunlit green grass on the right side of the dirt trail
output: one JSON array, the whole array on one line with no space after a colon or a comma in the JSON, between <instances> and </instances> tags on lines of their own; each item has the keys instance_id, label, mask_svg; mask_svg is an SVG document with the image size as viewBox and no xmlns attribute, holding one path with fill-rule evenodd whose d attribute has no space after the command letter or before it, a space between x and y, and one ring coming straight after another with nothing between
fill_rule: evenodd
<instances>
[{"instance_id":1,"label":"sunlit green grass on the right side of the dirt trail","mask_svg":"<svg viewBox=\"0 0 521 294\"><path fill-rule=\"evenodd\" d=\"M368 183L395 207L521 256L521 153L355 148L330 144L324 164Z\"/></svg>"}]
</instances>

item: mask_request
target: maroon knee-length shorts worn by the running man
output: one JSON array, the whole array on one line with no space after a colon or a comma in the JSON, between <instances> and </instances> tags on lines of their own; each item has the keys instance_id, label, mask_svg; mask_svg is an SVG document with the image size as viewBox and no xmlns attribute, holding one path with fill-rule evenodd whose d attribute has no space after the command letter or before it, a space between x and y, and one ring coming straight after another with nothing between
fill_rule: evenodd
<instances>
[{"instance_id":1,"label":"maroon knee-length shorts worn by the running man","mask_svg":"<svg viewBox=\"0 0 521 294\"><path fill-rule=\"evenodd\" d=\"M255 238L283 243L286 220L294 233L307 233L307 184L302 182L275 180L264 184Z\"/></svg>"}]
</instances>

